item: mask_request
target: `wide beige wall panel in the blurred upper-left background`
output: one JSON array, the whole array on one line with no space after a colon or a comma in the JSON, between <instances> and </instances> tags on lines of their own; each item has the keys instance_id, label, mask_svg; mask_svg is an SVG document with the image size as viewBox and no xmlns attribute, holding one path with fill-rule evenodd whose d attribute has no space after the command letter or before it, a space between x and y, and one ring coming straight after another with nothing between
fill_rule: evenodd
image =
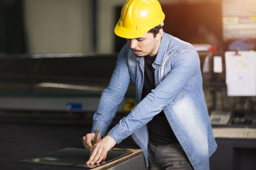
<instances>
[{"instance_id":1,"label":"wide beige wall panel in the blurred upper-left background","mask_svg":"<svg viewBox=\"0 0 256 170\"><path fill-rule=\"evenodd\" d=\"M24 0L28 52L92 52L90 3L90 0Z\"/></svg>"}]
</instances>

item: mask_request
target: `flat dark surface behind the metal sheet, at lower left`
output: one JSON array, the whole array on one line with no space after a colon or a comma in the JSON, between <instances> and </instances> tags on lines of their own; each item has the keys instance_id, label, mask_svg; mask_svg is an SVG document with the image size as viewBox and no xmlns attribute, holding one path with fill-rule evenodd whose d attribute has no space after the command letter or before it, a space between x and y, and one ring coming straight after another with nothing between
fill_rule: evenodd
<instances>
[{"instance_id":1,"label":"flat dark surface behind the metal sheet, at lower left","mask_svg":"<svg viewBox=\"0 0 256 170\"><path fill-rule=\"evenodd\" d=\"M82 169L18 163L63 148L83 148L82 138L91 126L38 124L35 122L0 121L0 169ZM138 148L131 138L116 148Z\"/></svg>"}]
</instances>

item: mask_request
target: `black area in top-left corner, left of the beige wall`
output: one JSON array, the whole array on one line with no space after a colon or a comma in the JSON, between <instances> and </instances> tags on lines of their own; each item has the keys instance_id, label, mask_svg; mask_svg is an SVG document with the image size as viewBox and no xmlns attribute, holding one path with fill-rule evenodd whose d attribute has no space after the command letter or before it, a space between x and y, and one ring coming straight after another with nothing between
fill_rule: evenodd
<instances>
[{"instance_id":1,"label":"black area in top-left corner, left of the beige wall","mask_svg":"<svg viewBox=\"0 0 256 170\"><path fill-rule=\"evenodd\" d=\"M26 53L24 1L0 1L0 53Z\"/></svg>"}]
</instances>

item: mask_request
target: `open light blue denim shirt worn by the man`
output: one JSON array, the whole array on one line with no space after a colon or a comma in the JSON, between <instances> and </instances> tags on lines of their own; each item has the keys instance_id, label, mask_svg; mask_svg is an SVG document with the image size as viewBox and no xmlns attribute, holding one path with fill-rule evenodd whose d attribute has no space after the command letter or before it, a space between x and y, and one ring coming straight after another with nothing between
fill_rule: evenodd
<instances>
[{"instance_id":1,"label":"open light blue denim shirt worn by the man","mask_svg":"<svg viewBox=\"0 0 256 170\"><path fill-rule=\"evenodd\" d=\"M93 115L92 131L99 127L100 134L106 134L132 81L136 86L136 107L108 132L109 136L120 143L132 135L143 150L148 166L147 123L163 110L193 168L209 169L209 157L217 145L205 104L198 53L189 43L164 32L152 66L156 89L140 101L144 58L134 55L127 43L124 45Z\"/></svg>"}]
</instances>

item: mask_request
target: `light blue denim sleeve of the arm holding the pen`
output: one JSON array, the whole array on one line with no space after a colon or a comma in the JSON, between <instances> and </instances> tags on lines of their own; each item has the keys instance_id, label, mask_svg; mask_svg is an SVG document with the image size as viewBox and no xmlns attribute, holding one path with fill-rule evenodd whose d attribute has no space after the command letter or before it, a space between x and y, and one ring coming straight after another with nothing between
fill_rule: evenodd
<instances>
[{"instance_id":1,"label":"light blue denim sleeve of the arm holding the pen","mask_svg":"<svg viewBox=\"0 0 256 170\"><path fill-rule=\"evenodd\" d=\"M99 127L99 132L105 136L106 131L115 117L118 105L124 99L125 92L129 86L130 75L127 66L127 50L126 44L116 60L116 67L109 81L109 85L100 97L100 102L97 111L93 115L92 132L95 132Z\"/></svg>"}]
</instances>

